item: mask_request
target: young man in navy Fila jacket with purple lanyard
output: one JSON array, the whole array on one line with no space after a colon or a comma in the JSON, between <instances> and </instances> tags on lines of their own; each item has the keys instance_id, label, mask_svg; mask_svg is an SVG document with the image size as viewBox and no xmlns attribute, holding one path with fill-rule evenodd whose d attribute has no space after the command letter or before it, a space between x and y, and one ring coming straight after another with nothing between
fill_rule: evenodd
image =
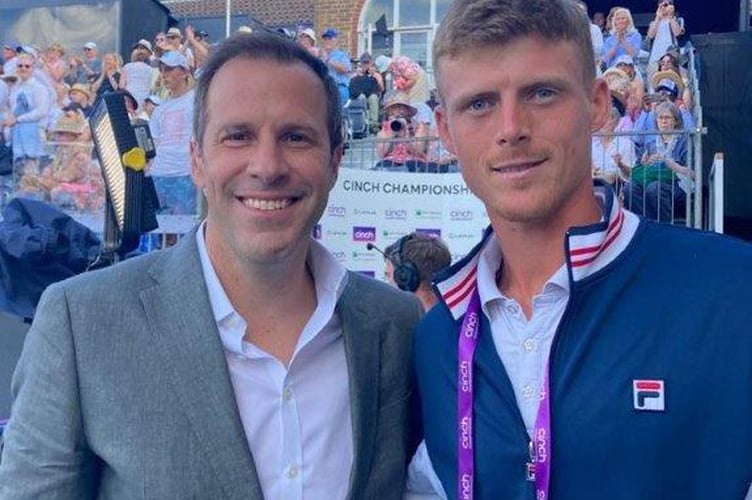
<instances>
[{"instance_id":1,"label":"young man in navy Fila jacket with purple lanyard","mask_svg":"<svg viewBox=\"0 0 752 500\"><path fill-rule=\"evenodd\" d=\"M455 2L433 54L439 133L491 227L418 328L413 479L463 499L745 498L752 246L594 188L609 93L574 3Z\"/></svg>"}]
</instances>

